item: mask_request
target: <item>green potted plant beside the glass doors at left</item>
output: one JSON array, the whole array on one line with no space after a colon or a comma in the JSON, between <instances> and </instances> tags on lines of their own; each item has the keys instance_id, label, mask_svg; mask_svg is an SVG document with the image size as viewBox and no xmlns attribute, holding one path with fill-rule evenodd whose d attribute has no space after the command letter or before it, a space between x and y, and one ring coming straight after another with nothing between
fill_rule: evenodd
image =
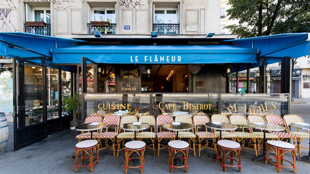
<instances>
[{"instance_id":1,"label":"green potted plant beside the glass doors at left","mask_svg":"<svg viewBox=\"0 0 310 174\"><path fill-rule=\"evenodd\" d=\"M78 113L78 94L74 94L73 97L64 99L64 108L67 111L72 111L72 120L70 121L70 129L74 129L78 125L78 119L76 119L76 114Z\"/></svg>"}]
</instances>

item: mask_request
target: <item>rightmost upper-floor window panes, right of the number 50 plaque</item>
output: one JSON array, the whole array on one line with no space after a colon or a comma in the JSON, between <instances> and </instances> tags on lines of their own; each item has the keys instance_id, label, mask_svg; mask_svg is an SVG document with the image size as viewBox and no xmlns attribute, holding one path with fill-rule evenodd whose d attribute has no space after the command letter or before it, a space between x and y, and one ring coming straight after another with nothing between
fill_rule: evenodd
<instances>
[{"instance_id":1,"label":"rightmost upper-floor window panes, right of the number 50 plaque","mask_svg":"<svg viewBox=\"0 0 310 174\"><path fill-rule=\"evenodd\" d=\"M155 24L178 24L177 10L156 9L154 11Z\"/></svg>"}]
</instances>

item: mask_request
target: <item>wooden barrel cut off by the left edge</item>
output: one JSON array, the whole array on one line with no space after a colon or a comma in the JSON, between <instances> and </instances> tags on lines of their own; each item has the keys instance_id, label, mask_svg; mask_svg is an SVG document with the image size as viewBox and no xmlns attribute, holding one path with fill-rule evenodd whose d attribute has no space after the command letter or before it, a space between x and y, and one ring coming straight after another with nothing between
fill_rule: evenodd
<instances>
[{"instance_id":1,"label":"wooden barrel cut off by the left edge","mask_svg":"<svg viewBox=\"0 0 310 174\"><path fill-rule=\"evenodd\" d=\"M9 126L6 114L0 112L0 155L7 151L7 145L9 140Z\"/></svg>"}]
</instances>

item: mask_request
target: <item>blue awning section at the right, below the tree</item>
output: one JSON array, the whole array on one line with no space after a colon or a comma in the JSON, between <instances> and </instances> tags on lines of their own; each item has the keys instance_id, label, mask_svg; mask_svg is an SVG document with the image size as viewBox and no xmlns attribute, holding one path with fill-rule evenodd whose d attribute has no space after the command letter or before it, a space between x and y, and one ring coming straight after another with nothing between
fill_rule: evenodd
<instances>
[{"instance_id":1,"label":"blue awning section at the right, below the tree","mask_svg":"<svg viewBox=\"0 0 310 174\"><path fill-rule=\"evenodd\" d=\"M225 41L234 42L235 45L244 48L258 49L258 59L262 57L295 59L309 55L310 33L286 33ZM270 59L270 61L277 60Z\"/></svg>"}]
</instances>

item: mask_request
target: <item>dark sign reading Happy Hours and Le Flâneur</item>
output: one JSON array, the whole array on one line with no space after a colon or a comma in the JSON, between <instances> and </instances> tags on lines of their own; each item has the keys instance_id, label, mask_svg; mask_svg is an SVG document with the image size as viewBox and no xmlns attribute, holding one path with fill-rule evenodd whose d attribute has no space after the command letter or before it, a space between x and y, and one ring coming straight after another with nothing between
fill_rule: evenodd
<instances>
[{"instance_id":1,"label":"dark sign reading Happy Hours and Le Fl\u00e2neur","mask_svg":"<svg viewBox=\"0 0 310 174\"><path fill-rule=\"evenodd\" d=\"M140 93L140 70L138 66L117 68L118 93Z\"/></svg>"}]
</instances>

